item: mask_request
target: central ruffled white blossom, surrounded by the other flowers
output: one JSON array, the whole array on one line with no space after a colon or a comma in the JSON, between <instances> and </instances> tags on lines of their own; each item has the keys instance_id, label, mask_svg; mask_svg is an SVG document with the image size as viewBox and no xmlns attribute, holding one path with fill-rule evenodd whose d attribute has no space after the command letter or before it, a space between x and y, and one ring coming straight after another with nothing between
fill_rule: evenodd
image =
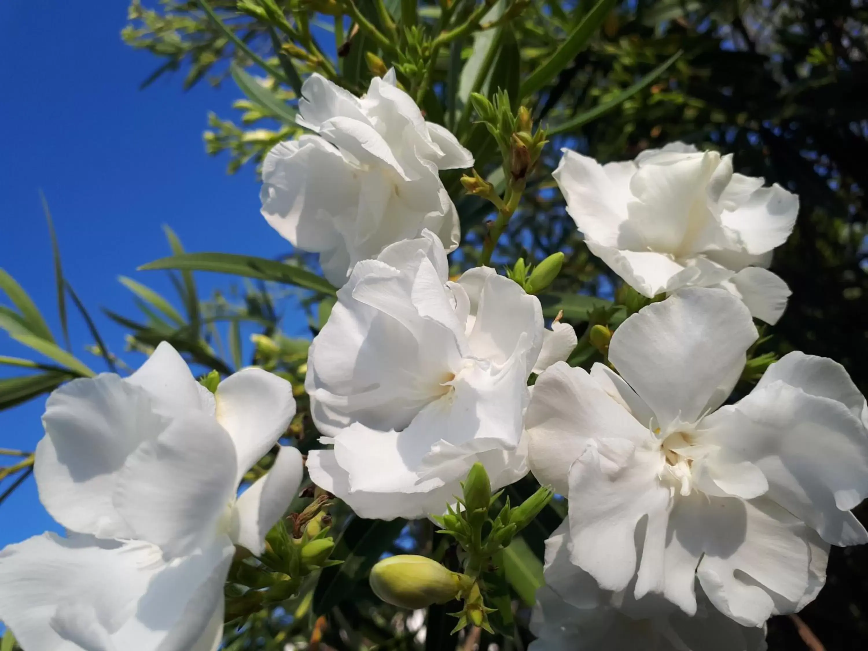
<instances>
[{"instance_id":1,"label":"central ruffled white blossom, surrounded by the other flowers","mask_svg":"<svg viewBox=\"0 0 868 651\"><path fill-rule=\"evenodd\" d=\"M523 477L529 373L543 348L575 347L571 329L543 337L539 300L512 280L448 271L430 231L386 247L356 265L311 345L305 388L334 448L307 467L360 516L442 512L477 461L496 487Z\"/></svg>"}]
</instances>

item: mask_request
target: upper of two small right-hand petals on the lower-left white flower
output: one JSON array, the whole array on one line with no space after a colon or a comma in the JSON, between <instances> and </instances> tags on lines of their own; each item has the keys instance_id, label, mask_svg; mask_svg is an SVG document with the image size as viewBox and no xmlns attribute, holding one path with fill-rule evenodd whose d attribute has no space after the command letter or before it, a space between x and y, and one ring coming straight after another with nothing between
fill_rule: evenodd
<instances>
[{"instance_id":1,"label":"upper of two small right-hand petals on the lower-left white flower","mask_svg":"<svg viewBox=\"0 0 868 651\"><path fill-rule=\"evenodd\" d=\"M292 422L293 385L260 368L246 368L220 382L214 400L217 422L235 445L237 486Z\"/></svg>"}]
</instances>

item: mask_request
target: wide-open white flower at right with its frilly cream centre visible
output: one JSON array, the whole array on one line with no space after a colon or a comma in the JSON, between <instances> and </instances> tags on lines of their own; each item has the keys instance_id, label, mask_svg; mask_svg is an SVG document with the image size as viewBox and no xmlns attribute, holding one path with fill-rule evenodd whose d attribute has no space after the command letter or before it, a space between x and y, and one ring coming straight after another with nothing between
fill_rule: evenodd
<instances>
[{"instance_id":1,"label":"wide-open white flower at right with its frilly cream centre visible","mask_svg":"<svg viewBox=\"0 0 868 651\"><path fill-rule=\"evenodd\" d=\"M792 352L718 409L756 338L732 294L689 288L615 331L620 376L556 364L537 379L529 465L569 495L572 561L603 589L635 577L637 599L693 614L698 578L759 626L816 594L829 543L868 541L850 512L868 494L865 398L843 367Z\"/></svg>"}]
</instances>

